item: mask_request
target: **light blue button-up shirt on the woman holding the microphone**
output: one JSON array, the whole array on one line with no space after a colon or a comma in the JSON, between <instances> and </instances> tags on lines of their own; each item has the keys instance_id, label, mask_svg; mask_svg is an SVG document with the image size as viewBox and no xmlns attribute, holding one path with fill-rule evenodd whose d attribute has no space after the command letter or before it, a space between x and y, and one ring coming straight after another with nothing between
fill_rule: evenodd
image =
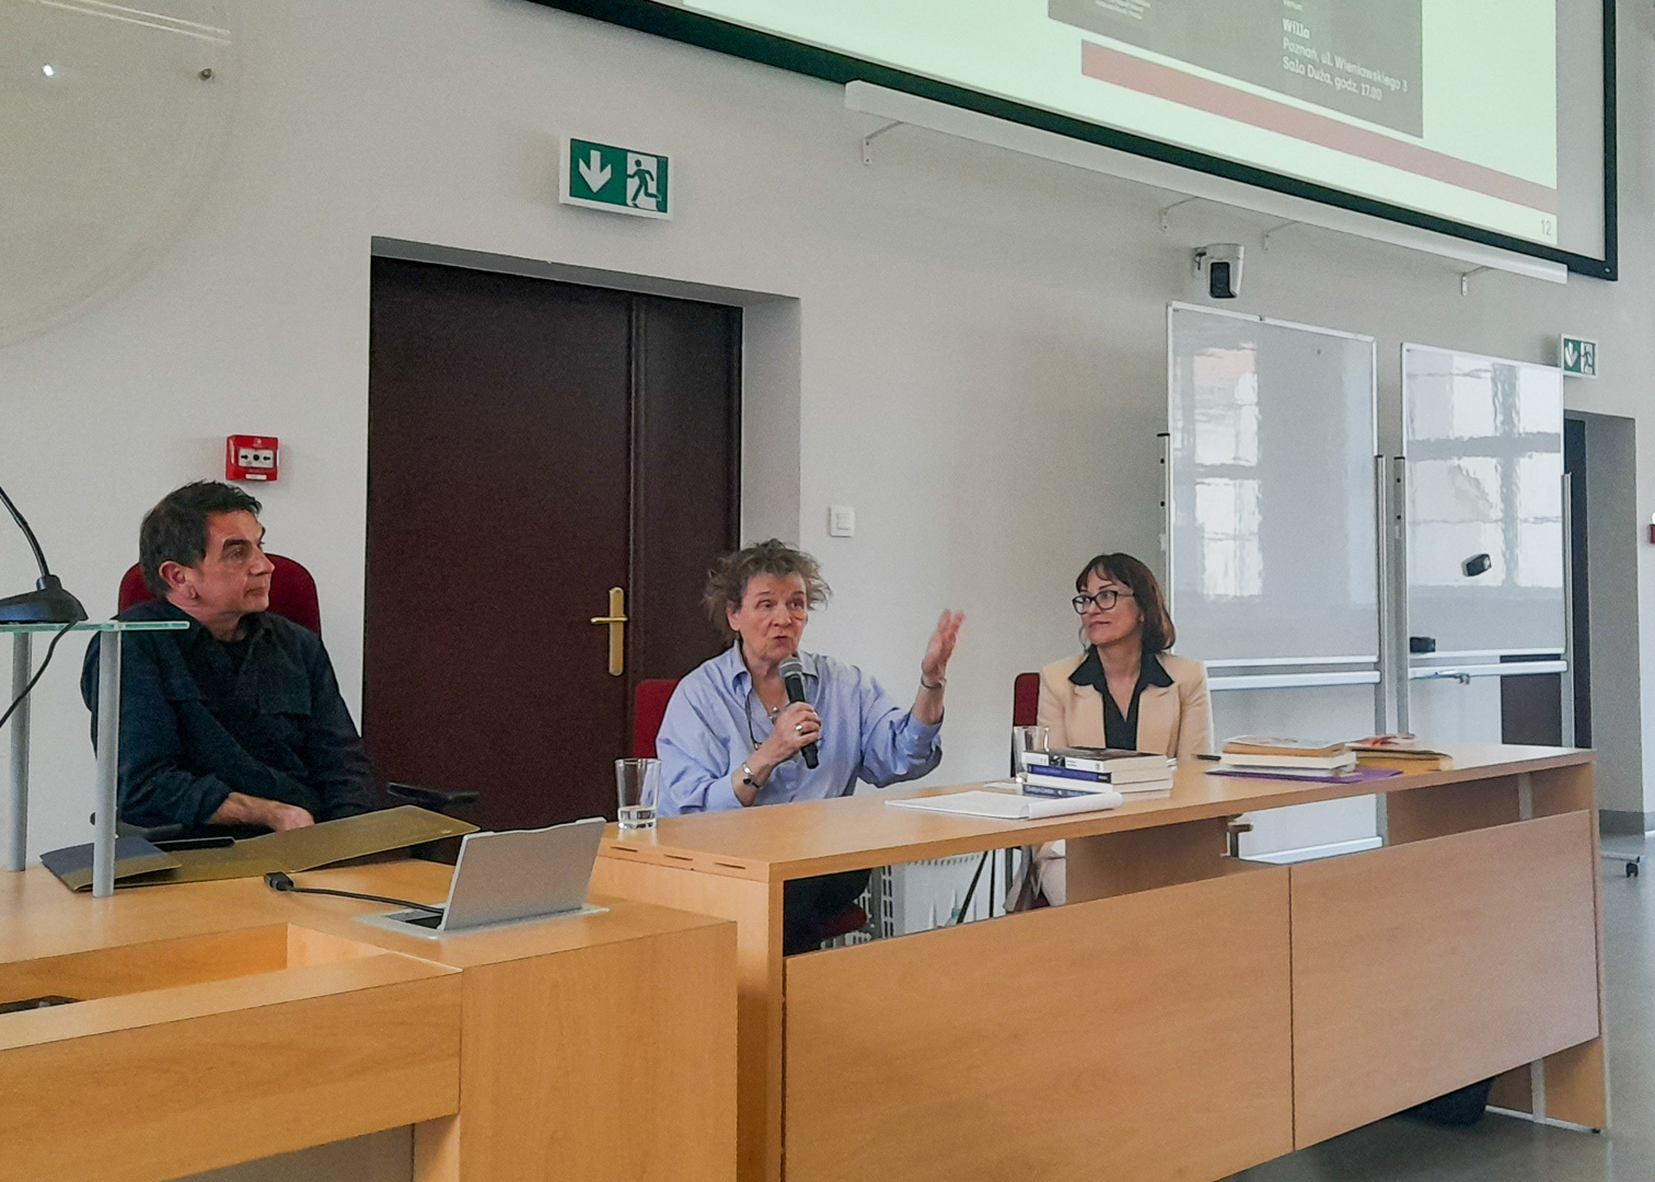
<instances>
[{"instance_id":1,"label":"light blue button-up shirt on the woman holding the microphone","mask_svg":"<svg viewBox=\"0 0 1655 1182\"><path fill-rule=\"evenodd\" d=\"M925 727L902 710L872 677L856 665L813 652L799 652L804 699L823 720L818 765L804 757L770 773L755 805L846 796L864 780L875 788L917 780L942 760L942 723ZM660 813L703 813L741 808L732 773L770 738L771 722L753 675L741 661L740 644L698 665L679 682L655 735L660 757Z\"/></svg>"}]
</instances>

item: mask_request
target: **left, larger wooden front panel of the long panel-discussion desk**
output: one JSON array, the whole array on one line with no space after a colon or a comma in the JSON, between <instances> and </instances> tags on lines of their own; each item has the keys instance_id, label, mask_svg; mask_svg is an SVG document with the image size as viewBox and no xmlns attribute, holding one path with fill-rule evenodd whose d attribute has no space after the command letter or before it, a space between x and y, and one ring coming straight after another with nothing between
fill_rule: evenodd
<instances>
[{"instance_id":1,"label":"left, larger wooden front panel of the long panel-discussion desk","mask_svg":"<svg viewBox=\"0 0 1655 1182\"><path fill-rule=\"evenodd\" d=\"M1293 1147L1288 871L786 962L786 1179L1216 1179Z\"/></svg>"}]
</instances>

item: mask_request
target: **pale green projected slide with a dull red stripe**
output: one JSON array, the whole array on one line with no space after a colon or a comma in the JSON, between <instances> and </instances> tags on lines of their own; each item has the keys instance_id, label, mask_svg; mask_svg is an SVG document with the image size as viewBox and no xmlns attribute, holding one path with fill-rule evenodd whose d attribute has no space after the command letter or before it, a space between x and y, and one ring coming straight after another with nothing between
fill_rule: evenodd
<instances>
[{"instance_id":1,"label":"pale green projected slide with a dull red stripe","mask_svg":"<svg viewBox=\"0 0 1655 1182\"><path fill-rule=\"evenodd\" d=\"M1556 0L677 3L1557 245Z\"/></svg>"}]
</instances>

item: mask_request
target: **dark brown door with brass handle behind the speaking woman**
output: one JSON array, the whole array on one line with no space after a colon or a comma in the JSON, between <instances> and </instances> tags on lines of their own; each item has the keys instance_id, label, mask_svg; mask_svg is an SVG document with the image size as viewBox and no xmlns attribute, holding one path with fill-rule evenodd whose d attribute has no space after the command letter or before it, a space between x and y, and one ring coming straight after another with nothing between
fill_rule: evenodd
<instances>
[{"instance_id":1,"label":"dark brown door with brass handle behind the speaking woman","mask_svg":"<svg viewBox=\"0 0 1655 1182\"><path fill-rule=\"evenodd\" d=\"M632 687L722 639L740 311L374 260L362 733L488 828L614 816ZM626 669L609 672L609 589Z\"/></svg>"}]
</instances>

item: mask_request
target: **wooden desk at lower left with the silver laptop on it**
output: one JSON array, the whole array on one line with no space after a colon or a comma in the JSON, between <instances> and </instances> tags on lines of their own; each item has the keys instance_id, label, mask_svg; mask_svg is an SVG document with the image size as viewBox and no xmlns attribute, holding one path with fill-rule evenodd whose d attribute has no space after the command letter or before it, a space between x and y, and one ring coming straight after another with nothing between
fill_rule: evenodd
<instances>
[{"instance_id":1,"label":"wooden desk at lower left with the silver laptop on it","mask_svg":"<svg viewBox=\"0 0 1655 1182\"><path fill-rule=\"evenodd\" d=\"M450 867L306 886L440 901ZM627 901L422 940L258 879L0 876L0 1182L162 1182L415 1126L419 1182L735 1174L735 930Z\"/></svg>"}]
</instances>

